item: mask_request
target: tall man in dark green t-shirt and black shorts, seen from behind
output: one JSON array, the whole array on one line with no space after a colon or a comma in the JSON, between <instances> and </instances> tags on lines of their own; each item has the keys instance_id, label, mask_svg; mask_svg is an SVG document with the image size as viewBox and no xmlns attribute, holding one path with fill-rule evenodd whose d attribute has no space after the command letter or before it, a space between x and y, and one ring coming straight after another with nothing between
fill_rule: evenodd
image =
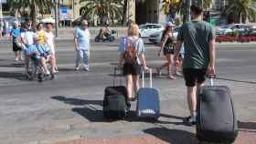
<instances>
[{"instance_id":1,"label":"tall man in dark green t-shirt and black shorts, seen from behind","mask_svg":"<svg viewBox=\"0 0 256 144\"><path fill-rule=\"evenodd\" d=\"M203 9L190 6L191 21L181 26L177 36L175 61L178 66L178 55L184 43L185 57L183 73L187 86L187 103L190 116L187 122L196 124L197 89L204 85L206 75L215 75L215 35L212 27L202 21Z\"/></svg>"}]
</instances>

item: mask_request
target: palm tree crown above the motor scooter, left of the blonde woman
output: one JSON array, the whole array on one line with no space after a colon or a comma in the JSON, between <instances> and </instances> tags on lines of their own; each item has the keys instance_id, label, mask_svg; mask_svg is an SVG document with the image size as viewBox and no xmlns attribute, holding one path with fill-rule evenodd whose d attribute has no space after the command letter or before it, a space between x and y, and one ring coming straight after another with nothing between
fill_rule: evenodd
<instances>
[{"instance_id":1,"label":"palm tree crown above the motor scooter, left of the blonde woman","mask_svg":"<svg viewBox=\"0 0 256 144\"><path fill-rule=\"evenodd\" d=\"M101 21L101 25L114 19L122 21L123 0L80 0L80 4L84 4L80 8L81 15L92 20L97 17Z\"/></svg>"}]
</instances>

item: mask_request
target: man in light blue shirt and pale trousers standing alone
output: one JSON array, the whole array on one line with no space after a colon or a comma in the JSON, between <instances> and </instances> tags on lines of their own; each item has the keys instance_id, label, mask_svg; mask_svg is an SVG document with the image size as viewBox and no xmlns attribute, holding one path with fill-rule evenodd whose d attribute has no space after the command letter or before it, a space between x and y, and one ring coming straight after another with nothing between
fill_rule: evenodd
<instances>
[{"instance_id":1,"label":"man in light blue shirt and pale trousers standing alone","mask_svg":"<svg viewBox=\"0 0 256 144\"><path fill-rule=\"evenodd\" d=\"M77 52L75 70L80 69L80 58L83 58L84 70L89 71L90 32L87 20L83 20L81 26L75 29L74 44Z\"/></svg>"}]
</instances>

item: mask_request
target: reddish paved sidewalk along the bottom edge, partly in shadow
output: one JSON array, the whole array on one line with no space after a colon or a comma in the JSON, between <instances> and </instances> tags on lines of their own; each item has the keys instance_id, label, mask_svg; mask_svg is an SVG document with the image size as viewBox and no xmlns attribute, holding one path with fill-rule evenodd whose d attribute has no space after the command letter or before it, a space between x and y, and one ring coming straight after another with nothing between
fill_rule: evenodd
<instances>
[{"instance_id":1,"label":"reddish paved sidewalk along the bottom edge, partly in shadow","mask_svg":"<svg viewBox=\"0 0 256 144\"><path fill-rule=\"evenodd\" d=\"M255 144L256 121L239 122L239 136L234 144ZM145 129L145 134L115 138L61 138L40 144L199 144L195 133L180 129ZM208 144L204 142L205 144Z\"/></svg>"}]
</instances>

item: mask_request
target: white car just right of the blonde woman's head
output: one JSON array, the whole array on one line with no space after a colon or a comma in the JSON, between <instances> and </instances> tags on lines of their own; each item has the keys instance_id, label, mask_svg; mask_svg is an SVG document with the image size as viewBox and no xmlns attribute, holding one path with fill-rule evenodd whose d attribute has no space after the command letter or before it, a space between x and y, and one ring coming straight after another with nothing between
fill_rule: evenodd
<instances>
[{"instance_id":1,"label":"white car just right of the blonde woman's head","mask_svg":"<svg viewBox=\"0 0 256 144\"><path fill-rule=\"evenodd\" d=\"M142 38L148 38L150 35L155 32L160 32L164 30L165 27L160 24L144 24L139 26L139 35Z\"/></svg>"}]
</instances>

